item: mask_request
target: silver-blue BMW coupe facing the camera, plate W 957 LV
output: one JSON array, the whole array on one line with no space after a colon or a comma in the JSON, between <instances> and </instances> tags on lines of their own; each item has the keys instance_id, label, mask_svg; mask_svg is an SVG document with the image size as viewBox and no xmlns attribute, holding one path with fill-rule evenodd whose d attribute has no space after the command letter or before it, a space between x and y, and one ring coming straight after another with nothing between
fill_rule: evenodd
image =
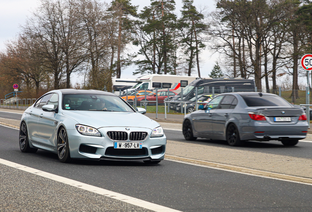
<instances>
[{"instance_id":1,"label":"silver-blue BMW coupe facing the camera, plate W 957 LV","mask_svg":"<svg viewBox=\"0 0 312 212\"><path fill-rule=\"evenodd\" d=\"M19 145L22 152L37 149L71 159L164 159L166 136L162 127L134 110L122 98L104 91L62 89L39 98L23 113Z\"/></svg>"}]
</instances>

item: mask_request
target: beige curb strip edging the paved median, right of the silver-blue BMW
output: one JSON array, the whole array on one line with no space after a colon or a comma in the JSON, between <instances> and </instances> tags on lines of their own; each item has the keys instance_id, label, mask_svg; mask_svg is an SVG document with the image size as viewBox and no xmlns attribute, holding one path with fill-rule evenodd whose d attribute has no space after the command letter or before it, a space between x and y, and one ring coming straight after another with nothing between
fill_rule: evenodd
<instances>
[{"instance_id":1,"label":"beige curb strip edging the paved median, right of the silver-blue BMW","mask_svg":"<svg viewBox=\"0 0 312 212\"><path fill-rule=\"evenodd\" d=\"M179 156L165 155L165 159L172 159L172 160L177 160L177 161L195 163L195 164L199 164L199 165L218 167L218 168L225 169L225 170L232 170L232 171L237 171L237 172L242 172L242 173L248 173L248 174L271 177L271 178L278 178L278 179L295 181L295 182L306 183L306 184L312 185L312 179L311 178L296 177L296 176L292 176L292 175L285 175L285 174L279 174L279 173L274 173L274 172L261 171L261 170L256 170L256 169L244 168L244 167L227 165L227 164L216 163L216 162L209 162L209 161L204 161L204 160L187 159L187 158L182 158Z\"/></svg>"}]
</instances>

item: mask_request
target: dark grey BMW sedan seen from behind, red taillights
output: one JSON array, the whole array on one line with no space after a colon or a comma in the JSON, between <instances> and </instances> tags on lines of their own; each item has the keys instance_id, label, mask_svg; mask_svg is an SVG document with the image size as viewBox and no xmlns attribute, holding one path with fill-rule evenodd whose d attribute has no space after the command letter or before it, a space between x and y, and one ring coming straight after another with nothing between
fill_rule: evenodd
<instances>
[{"instance_id":1,"label":"dark grey BMW sedan seen from behind, red taillights","mask_svg":"<svg viewBox=\"0 0 312 212\"><path fill-rule=\"evenodd\" d=\"M184 116L182 132L186 140L227 140L230 146L242 145L245 140L279 140L293 146L308 132L304 110L275 94L225 93L199 108Z\"/></svg>"}]
</instances>

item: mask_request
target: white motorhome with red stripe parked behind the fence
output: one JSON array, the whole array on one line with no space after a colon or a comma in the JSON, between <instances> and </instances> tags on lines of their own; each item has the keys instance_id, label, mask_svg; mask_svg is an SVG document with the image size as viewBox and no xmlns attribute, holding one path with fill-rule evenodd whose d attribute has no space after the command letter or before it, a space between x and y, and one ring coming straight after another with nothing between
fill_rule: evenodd
<instances>
[{"instance_id":1,"label":"white motorhome with red stripe parked behind the fence","mask_svg":"<svg viewBox=\"0 0 312 212\"><path fill-rule=\"evenodd\" d=\"M171 83L170 90L179 93L181 91L181 80L187 80L188 84L194 81L197 77L189 77L189 76L178 76L178 75L158 75L151 74L145 75L141 78L136 79L137 84L128 89L128 92L134 89L137 90L153 90L153 82L169 82ZM123 93L126 93L124 91Z\"/></svg>"}]
</instances>

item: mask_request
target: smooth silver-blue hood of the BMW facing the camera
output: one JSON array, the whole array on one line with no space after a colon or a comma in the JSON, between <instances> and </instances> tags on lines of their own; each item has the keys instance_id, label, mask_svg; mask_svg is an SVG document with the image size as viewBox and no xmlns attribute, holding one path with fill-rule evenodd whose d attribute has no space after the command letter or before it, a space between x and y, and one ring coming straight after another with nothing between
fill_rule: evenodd
<instances>
[{"instance_id":1,"label":"smooth silver-blue hood of the BMW facing the camera","mask_svg":"<svg viewBox=\"0 0 312 212\"><path fill-rule=\"evenodd\" d=\"M141 127L153 130L159 126L156 121L136 112L63 110L62 114L74 119L78 124L96 129L102 127Z\"/></svg>"}]
</instances>

